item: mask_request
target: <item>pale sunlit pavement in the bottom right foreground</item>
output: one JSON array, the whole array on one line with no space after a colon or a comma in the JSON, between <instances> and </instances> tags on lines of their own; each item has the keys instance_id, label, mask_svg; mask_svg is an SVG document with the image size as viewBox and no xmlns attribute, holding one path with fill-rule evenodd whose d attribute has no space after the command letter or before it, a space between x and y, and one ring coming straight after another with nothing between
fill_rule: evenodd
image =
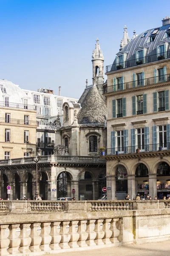
<instances>
[{"instance_id":1,"label":"pale sunlit pavement in the bottom right foreground","mask_svg":"<svg viewBox=\"0 0 170 256\"><path fill-rule=\"evenodd\" d=\"M108 247L97 250L85 250L85 251L77 251L77 252L65 252L65 253L57 253L51 254L51 256L113 256L121 255L121 256L162 256L162 255L170 255L170 241L156 242L156 243L148 243L148 244L130 244L120 247Z\"/></svg>"}]
</instances>

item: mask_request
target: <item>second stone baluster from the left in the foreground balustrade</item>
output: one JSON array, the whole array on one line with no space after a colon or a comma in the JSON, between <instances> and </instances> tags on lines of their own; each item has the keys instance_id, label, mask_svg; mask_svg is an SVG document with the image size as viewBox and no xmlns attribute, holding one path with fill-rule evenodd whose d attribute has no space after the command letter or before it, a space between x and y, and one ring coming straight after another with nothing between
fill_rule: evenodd
<instances>
[{"instance_id":1,"label":"second stone baluster from the left in the foreground balustrade","mask_svg":"<svg viewBox=\"0 0 170 256\"><path fill-rule=\"evenodd\" d=\"M16 230L20 227L20 224L10 224L9 225L9 236L8 239L10 240L8 252L11 254L20 253L18 250L21 239L17 237Z\"/></svg>"}]
</instances>

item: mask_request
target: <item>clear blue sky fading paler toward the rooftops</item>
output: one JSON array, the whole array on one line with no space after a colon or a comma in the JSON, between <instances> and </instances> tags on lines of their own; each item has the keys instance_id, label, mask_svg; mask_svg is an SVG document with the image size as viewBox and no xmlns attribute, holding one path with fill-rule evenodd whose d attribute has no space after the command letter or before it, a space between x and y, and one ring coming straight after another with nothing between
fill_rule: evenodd
<instances>
[{"instance_id":1,"label":"clear blue sky fading paler toward the rooftops","mask_svg":"<svg viewBox=\"0 0 170 256\"><path fill-rule=\"evenodd\" d=\"M51 88L55 94L61 86L62 96L79 98L85 80L92 82L96 38L105 65L112 64L125 25L132 38L134 29L139 34L170 16L170 2L160 3L0 0L0 79L30 90Z\"/></svg>"}]
</instances>

